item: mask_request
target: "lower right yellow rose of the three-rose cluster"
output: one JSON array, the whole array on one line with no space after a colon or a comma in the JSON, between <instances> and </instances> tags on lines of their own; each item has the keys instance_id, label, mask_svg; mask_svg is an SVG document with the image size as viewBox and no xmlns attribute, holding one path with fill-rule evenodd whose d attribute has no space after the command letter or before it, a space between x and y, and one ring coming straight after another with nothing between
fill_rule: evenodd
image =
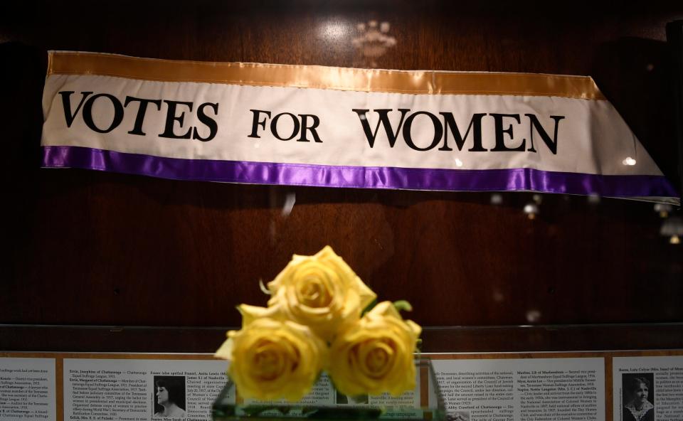
<instances>
[{"instance_id":1,"label":"lower right yellow rose of the three-rose cluster","mask_svg":"<svg viewBox=\"0 0 683 421\"><path fill-rule=\"evenodd\" d=\"M391 302L381 302L342 331L330 347L329 374L345 395L415 389L413 351L422 329L403 320Z\"/></svg>"}]
</instances>

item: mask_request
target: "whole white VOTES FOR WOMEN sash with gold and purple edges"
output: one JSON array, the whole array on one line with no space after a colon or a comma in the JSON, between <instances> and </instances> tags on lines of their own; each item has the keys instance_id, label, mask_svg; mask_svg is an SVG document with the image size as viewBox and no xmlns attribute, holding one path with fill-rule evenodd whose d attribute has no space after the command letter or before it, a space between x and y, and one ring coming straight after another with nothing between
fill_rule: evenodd
<instances>
[{"instance_id":1,"label":"whole white VOTES FOR WOMEN sash with gold and purple edges","mask_svg":"<svg viewBox=\"0 0 683 421\"><path fill-rule=\"evenodd\" d=\"M584 76L51 51L43 117L47 168L679 203Z\"/></svg>"}]
</instances>

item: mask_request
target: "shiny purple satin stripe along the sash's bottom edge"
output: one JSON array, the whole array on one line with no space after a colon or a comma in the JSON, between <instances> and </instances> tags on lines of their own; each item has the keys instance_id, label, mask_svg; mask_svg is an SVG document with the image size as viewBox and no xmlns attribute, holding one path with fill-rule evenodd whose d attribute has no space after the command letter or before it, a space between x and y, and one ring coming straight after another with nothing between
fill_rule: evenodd
<instances>
[{"instance_id":1,"label":"shiny purple satin stripe along the sash's bottom edge","mask_svg":"<svg viewBox=\"0 0 683 421\"><path fill-rule=\"evenodd\" d=\"M602 176L519 169L413 169L164 158L43 146L44 167L72 167L181 180L443 191L539 191L612 197L678 197L663 176Z\"/></svg>"}]
</instances>

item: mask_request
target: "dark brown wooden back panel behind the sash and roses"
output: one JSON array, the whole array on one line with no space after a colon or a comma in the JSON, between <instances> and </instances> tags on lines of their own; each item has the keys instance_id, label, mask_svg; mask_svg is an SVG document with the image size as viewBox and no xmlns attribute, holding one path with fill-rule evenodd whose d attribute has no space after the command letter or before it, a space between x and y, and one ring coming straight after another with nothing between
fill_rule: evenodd
<instances>
[{"instance_id":1,"label":"dark brown wooden back panel behind the sash and roses","mask_svg":"<svg viewBox=\"0 0 683 421\"><path fill-rule=\"evenodd\" d=\"M592 75L679 186L665 3L31 2L0 14L3 324L235 326L293 253L334 249L425 326L683 321L652 204L245 186L39 169L45 52ZM358 23L391 24L372 60ZM615 159L618 156L615 156ZM290 215L282 215L295 194ZM680 330L678 331L680 333ZM683 345L683 339L679 340Z\"/></svg>"}]
</instances>

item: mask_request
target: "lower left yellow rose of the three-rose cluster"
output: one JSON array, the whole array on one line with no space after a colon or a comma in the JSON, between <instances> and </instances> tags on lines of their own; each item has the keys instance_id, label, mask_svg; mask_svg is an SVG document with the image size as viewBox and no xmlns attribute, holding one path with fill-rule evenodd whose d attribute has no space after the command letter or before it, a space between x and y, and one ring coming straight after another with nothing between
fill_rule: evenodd
<instances>
[{"instance_id":1,"label":"lower left yellow rose of the three-rose cluster","mask_svg":"<svg viewBox=\"0 0 683 421\"><path fill-rule=\"evenodd\" d=\"M244 323L241 330L228 331L228 340L216 351L218 358L231 361L228 375L238 393L243 398L291 401L309 393L327 365L325 343L292 321L245 317Z\"/></svg>"}]
</instances>

